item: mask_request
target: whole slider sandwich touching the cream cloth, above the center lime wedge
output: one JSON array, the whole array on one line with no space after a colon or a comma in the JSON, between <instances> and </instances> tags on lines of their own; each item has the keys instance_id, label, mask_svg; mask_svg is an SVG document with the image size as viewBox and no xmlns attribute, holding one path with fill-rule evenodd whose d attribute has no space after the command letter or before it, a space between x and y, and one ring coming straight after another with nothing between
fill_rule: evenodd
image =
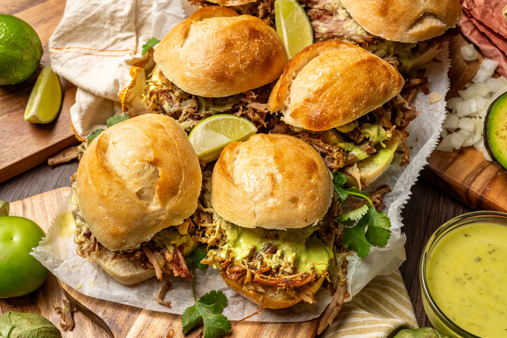
<instances>
[{"instance_id":1,"label":"whole slider sandwich touching the cream cloth, above the center lime wedge","mask_svg":"<svg viewBox=\"0 0 507 338\"><path fill-rule=\"evenodd\" d=\"M144 105L190 131L220 113L266 126L265 104L287 57L276 31L261 19L211 6L169 31L154 60Z\"/></svg>"}]
</instances>

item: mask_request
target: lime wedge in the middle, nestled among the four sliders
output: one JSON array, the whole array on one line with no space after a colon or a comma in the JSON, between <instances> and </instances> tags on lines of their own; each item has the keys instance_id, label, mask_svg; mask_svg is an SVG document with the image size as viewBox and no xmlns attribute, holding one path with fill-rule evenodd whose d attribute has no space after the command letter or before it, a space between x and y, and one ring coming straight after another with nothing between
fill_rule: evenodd
<instances>
[{"instance_id":1,"label":"lime wedge in the middle, nestled among the four sliders","mask_svg":"<svg viewBox=\"0 0 507 338\"><path fill-rule=\"evenodd\" d=\"M190 132L189 139L197 157L210 162L219 158L229 143L246 141L256 132L256 126L244 117L218 114L199 122Z\"/></svg>"}]
</instances>

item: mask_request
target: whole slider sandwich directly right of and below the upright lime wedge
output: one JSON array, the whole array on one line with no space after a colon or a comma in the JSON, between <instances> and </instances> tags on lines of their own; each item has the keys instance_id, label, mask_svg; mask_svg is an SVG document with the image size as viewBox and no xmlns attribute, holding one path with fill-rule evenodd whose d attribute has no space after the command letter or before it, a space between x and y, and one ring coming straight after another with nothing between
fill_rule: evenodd
<instances>
[{"instance_id":1,"label":"whole slider sandwich directly right of and below the upright lime wedge","mask_svg":"<svg viewBox=\"0 0 507 338\"><path fill-rule=\"evenodd\" d=\"M339 40L312 44L288 61L271 92L268 109L280 119L270 132L309 143L331 170L347 174L349 185L369 185L417 116L400 95L403 86L394 66L363 48Z\"/></svg>"}]
</instances>

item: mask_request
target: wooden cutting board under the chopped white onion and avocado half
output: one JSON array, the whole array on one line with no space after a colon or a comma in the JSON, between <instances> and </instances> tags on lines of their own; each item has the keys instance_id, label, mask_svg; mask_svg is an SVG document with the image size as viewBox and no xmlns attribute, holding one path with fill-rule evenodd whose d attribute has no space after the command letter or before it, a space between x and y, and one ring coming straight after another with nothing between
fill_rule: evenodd
<instances>
[{"instance_id":1,"label":"wooden cutting board under the chopped white onion and avocado half","mask_svg":"<svg viewBox=\"0 0 507 338\"><path fill-rule=\"evenodd\" d=\"M457 96L458 90L465 89L465 84L472 81L483 60L482 55L475 61L463 60L461 47L467 44L469 42L461 35L451 44L451 88L447 98ZM474 147L452 153L434 150L421 177L474 210L507 212L507 173L495 163L486 161Z\"/></svg>"}]
</instances>

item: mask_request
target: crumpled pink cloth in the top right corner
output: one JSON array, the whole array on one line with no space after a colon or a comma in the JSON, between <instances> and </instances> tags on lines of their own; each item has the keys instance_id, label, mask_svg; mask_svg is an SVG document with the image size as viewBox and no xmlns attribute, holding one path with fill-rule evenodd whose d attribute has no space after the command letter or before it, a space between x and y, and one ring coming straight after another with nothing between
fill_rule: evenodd
<instances>
[{"instance_id":1,"label":"crumpled pink cloth in the top right corner","mask_svg":"<svg viewBox=\"0 0 507 338\"><path fill-rule=\"evenodd\" d=\"M462 0L459 25L485 57L498 61L496 71L507 77L507 20L502 14L505 5L507 0Z\"/></svg>"}]
</instances>

